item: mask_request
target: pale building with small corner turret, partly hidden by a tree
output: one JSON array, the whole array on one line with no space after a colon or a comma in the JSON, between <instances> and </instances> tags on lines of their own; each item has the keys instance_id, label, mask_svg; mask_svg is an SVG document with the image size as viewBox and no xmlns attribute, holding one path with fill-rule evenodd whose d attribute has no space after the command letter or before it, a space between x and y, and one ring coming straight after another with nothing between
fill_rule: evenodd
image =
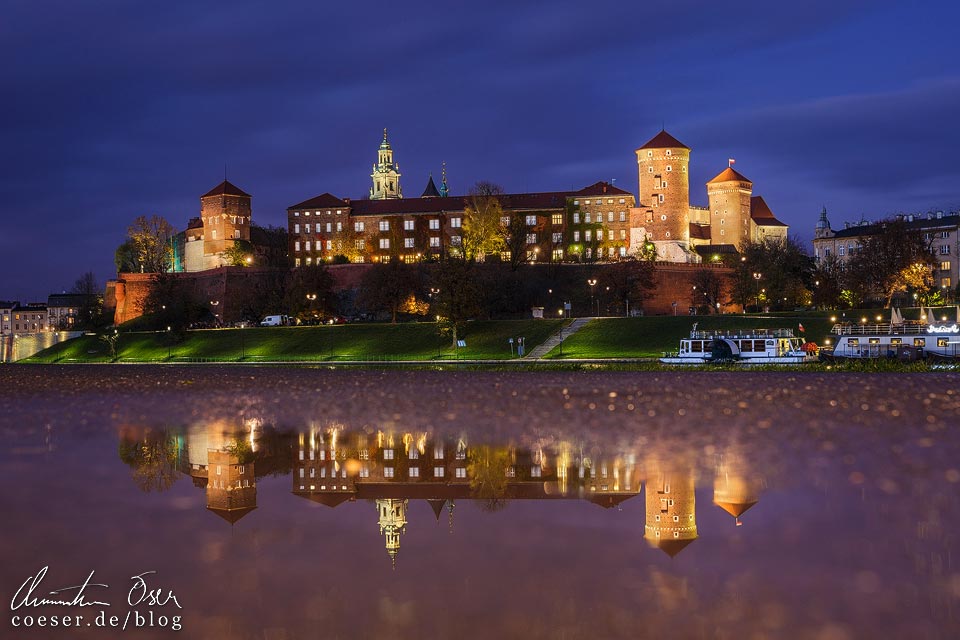
<instances>
[{"instance_id":1,"label":"pale building with small corner turret, partly hidden by a tree","mask_svg":"<svg viewBox=\"0 0 960 640\"><path fill-rule=\"evenodd\" d=\"M907 229L923 234L934 257L934 284L941 289L951 289L960 282L960 214L943 211L925 215L901 215ZM846 223L843 229L834 230L827 218L826 207L820 212L814 229L813 254L817 262L831 257L846 262L863 249L869 236L883 230L883 222Z\"/></svg>"}]
</instances>

